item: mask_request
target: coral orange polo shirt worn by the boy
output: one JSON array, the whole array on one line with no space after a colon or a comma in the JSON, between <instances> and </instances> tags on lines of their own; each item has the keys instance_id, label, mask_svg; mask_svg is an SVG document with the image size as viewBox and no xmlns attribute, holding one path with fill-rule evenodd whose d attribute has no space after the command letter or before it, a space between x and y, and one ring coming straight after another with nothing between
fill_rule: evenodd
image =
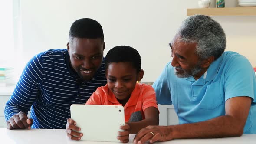
<instances>
[{"instance_id":1,"label":"coral orange polo shirt worn by the boy","mask_svg":"<svg viewBox=\"0 0 256 144\"><path fill-rule=\"evenodd\" d=\"M108 89L108 85L97 88L86 105L122 105ZM136 83L128 102L125 104L125 122L145 119L144 111L148 107L158 109L156 94L150 85Z\"/></svg>"}]
</instances>

